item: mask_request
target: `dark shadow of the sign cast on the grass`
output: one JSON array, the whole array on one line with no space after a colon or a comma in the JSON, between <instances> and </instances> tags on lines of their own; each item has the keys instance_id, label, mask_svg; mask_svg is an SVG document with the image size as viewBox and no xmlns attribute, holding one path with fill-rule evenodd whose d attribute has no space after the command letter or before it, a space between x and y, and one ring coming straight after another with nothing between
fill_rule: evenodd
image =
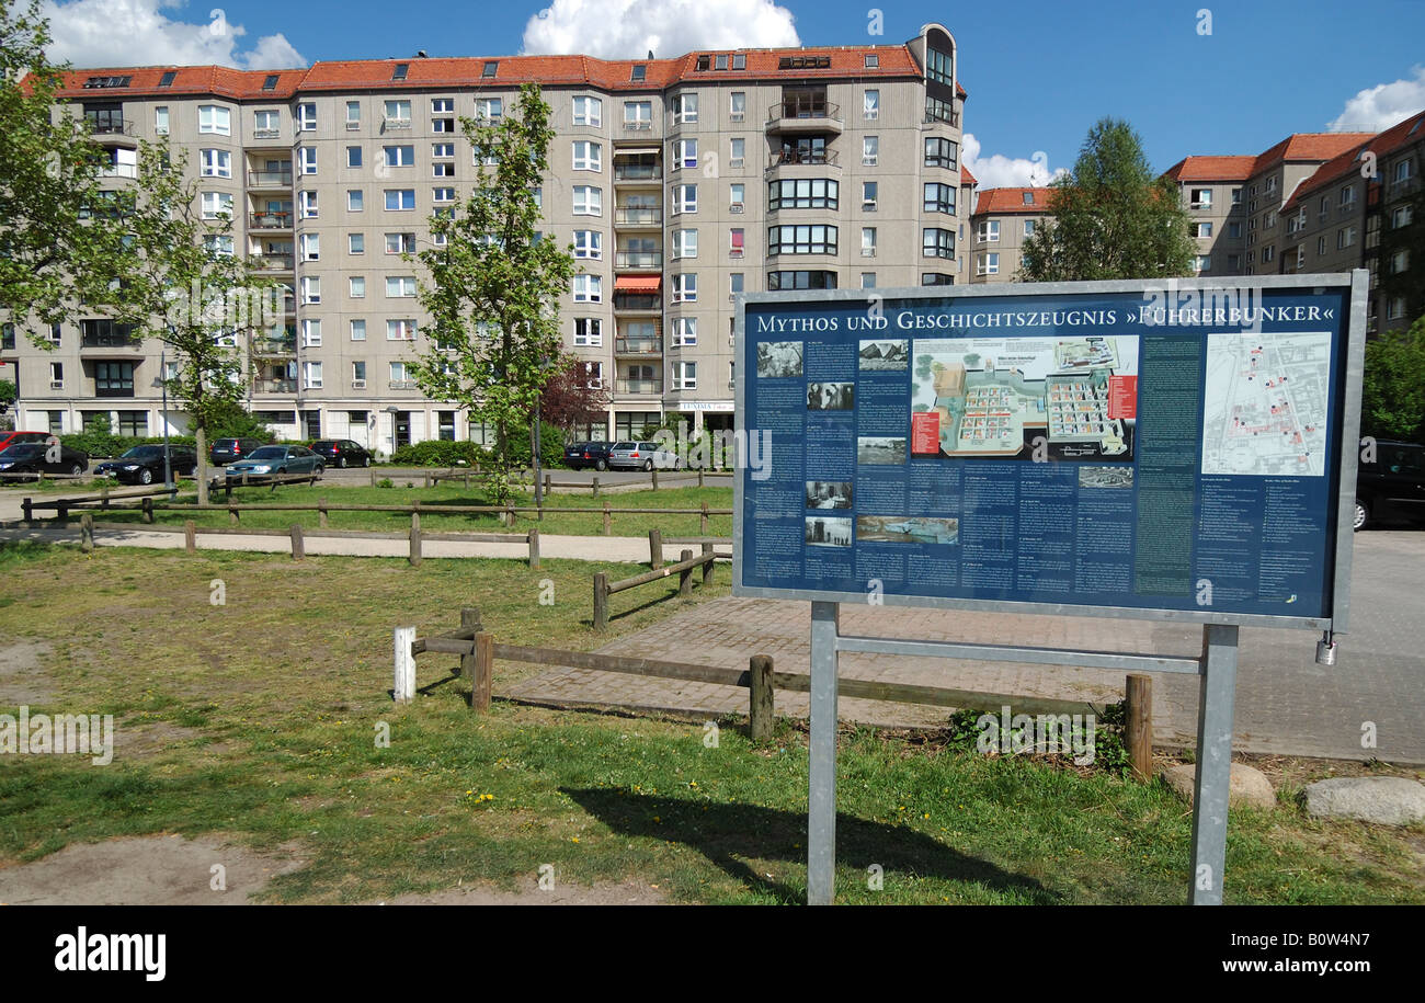
<instances>
[{"instance_id":1,"label":"dark shadow of the sign cast on the grass","mask_svg":"<svg viewBox=\"0 0 1425 1003\"><path fill-rule=\"evenodd\" d=\"M771 880L744 861L805 865L805 815L760 805L636 795L623 789L566 786L560 791L620 835L681 842L751 892L788 905L802 902L801 889ZM858 868L879 863L886 872L982 885L993 892L1017 893L1035 905L1062 903L1059 895L1033 878L966 856L913 829L866 822L842 812L836 814L836 858Z\"/></svg>"}]
</instances>

